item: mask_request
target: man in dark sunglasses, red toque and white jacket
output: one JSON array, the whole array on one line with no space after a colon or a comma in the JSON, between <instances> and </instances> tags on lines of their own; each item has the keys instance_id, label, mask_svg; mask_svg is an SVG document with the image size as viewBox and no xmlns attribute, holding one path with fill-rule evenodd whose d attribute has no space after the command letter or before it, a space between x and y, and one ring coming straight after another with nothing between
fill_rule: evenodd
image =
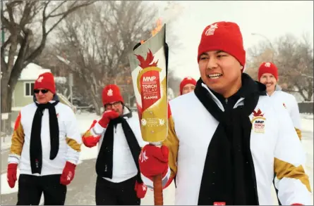
<instances>
[{"instance_id":1,"label":"man in dark sunglasses, red toque and white jacket","mask_svg":"<svg viewBox=\"0 0 314 206\"><path fill-rule=\"evenodd\" d=\"M73 110L59 102L54 76L40 75L34 103L20 110L8 155L8 185L18 179L17 205L64 205L66 185L74 178L82 140Z\"/></svg>"}]
</instances>

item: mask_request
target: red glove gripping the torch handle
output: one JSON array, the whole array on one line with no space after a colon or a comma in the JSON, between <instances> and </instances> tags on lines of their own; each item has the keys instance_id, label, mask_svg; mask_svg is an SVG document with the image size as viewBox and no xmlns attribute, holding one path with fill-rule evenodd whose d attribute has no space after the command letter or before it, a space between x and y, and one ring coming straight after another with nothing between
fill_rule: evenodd
<instances>
[{"instance_id":1,"label":"red glove gripping the torch handle","mask_svg":"<svg viewBox=\"0 0 314 206\"><path fill-rule=\"evenodd\" d=\"M168 172L168 155L167 146L158 148L153 145L145 145L138 158L140 172L151 180L157 174L162 174L162 177L166 176Z\"/></svg>"}]
</instances>

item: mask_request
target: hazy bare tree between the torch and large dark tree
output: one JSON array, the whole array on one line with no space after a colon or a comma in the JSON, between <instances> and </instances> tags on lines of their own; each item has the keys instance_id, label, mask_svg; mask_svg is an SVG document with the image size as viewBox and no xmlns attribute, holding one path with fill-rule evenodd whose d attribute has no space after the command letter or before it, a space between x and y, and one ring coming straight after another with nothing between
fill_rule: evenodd
<instances>
[{"instance_id":1,"label":"hazy bare tree between the torch and large dark tree","mask_svg":"<svg viewBox=\"0 0 314 206\"><path fill-rule=\"evenodd\" d=\"M68 69L78 77L76 86L92 101L97 114L105 84L123 84L122 93L133 94L128 53L150 36L155 13L142 1L102 1L80 8L59 27L59 55L70 62Z\"/></svg>"}]
</instances>

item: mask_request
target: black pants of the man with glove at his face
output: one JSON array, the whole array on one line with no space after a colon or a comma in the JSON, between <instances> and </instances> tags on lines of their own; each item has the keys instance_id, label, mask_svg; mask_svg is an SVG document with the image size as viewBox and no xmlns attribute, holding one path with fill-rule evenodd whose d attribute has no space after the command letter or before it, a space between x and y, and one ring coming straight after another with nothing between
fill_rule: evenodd
<instances>
[{"instance_id":1,"label":"black pants of the man with glove at his face","mask_svg":"<svg viewBox=\"0 0 314 206\"><path fill-rule=\"evenodd\" d=\"M140 205L136 195L136 176L121 183L113 183L97 176L96 205Z\"/></svg>"}]
</instances>

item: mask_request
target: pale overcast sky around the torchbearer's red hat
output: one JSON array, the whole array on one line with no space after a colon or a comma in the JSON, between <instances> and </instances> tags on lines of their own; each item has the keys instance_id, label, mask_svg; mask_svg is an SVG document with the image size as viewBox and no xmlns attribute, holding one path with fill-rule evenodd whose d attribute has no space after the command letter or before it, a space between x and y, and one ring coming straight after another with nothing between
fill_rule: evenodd
<instances>
[{"instance_id":1,"label":"pale overcast sky around the torchbearer's red hat","mask_svg":"<svg viewBox=\"0 0 314 206\"><path fill-rule=\"evenodd\" d=\"M181 78L199 78L197 51L203 29L212 22L236 22L242 32L245 49L265 40L251 35L262 34L270 41L286 33L313 39L313 1L176 1L183 6L176 25L171 27L182 49L172 55L170 63L180 63L175 74ZM154 4L164 6L164 2ZM312 40L313 44L313 40ZM175 58L175 60L174 60ZM174 66L174 65L171 65Z\"/></svg>"}]
</instances>

